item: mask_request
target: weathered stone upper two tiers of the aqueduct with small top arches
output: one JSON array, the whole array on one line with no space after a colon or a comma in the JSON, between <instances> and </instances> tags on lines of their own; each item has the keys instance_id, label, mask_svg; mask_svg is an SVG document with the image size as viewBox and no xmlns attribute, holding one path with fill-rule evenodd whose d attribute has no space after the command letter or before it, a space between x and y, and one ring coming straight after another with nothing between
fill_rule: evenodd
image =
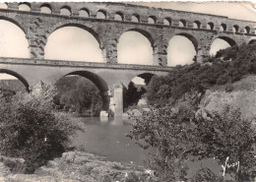
<instances>
[{"instance_id":1,"label":"weathered stone upper two tiers of the aqueduct with small top arches","mask_svg":"<svg viewBox=\"0 0 256 182\"><path fill-rule=\"evenodd\" d=\"M122 3L26 3L31 12L19 11L19 3L7 3L7 9L0 9L0 19L10 21L25 31L29 40L32 59L43 59L44 46L48 36L54 31L67 26L76 26L90 31L99 43L106 63L117 63L117 43L121 34L128 30L136 30L144 34L152 44L154 65L167 65L167 46L174 35L189 38L195 46L197 61L209 56L212 42L223 38L229 44L248 43L256 37L254 22L231 20L227 17L197 14L182 11L164 10ZM51 14L40 13L41 7L48 7ZM71 15L60 15L66 8ZM89 17L80 17L80 10L88 12ZM105 14L105 19L96 19L96 13ZM114 20L114 15L122 17L122 21ZM137 16L139 22L131 22L132 16ZM148 18L155 24L148 24ZM163 20L169 25L163 25ZM179 22L185 27L179 27ZM193 23L198 28L193 27ZM212 24L213 30L207 30ZM221 25L225 30L220 30ZM237 26L236 32L232 31ZM246 28L247 31L244 31Z\"/></svg>"}]
</instances>

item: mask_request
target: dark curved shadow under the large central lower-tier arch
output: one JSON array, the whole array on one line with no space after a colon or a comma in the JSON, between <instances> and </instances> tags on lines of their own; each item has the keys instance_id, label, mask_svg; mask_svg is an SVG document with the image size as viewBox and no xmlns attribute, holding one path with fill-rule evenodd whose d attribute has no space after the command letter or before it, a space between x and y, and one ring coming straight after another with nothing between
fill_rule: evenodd
<instances>
[{"instance_id":1,"label":"dark curved shadow under the large central lower-tier arch","mask_svg":"<svg viewBox=\"0 0 256 182\"><path fill-rule=\"evenodd\" d=\"M108 95L109 89L107 84L101 77L89 71L75 71L65 76L71 76L71 75L81 76L92 81L96 85L96 88L100 91L100 95L102 97L102 109L105 111L109 109L109 102L110 102L110 96Z\"/></svg>"}]
</instances>

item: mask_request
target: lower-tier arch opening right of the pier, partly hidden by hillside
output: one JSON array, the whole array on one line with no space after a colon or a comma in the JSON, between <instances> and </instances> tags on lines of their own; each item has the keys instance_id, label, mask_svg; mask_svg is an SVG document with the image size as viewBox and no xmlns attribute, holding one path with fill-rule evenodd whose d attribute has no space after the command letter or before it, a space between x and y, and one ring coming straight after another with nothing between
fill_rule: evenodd
<instances>
[{"instance_id":1,"label":"lower-tier arch opening right of the pier, partly hidden by hillside","mask_svg":"<svg viewBox=\"0 0 256 182\"><path fill-rule=\"evenodd\" d=\"M135 77L124 91L124 110L131 106L139 106L141 108L148 107L147 105L147 86L151 79L155 76L151 73L140 74Z\"/></svg>"}]
</instances>

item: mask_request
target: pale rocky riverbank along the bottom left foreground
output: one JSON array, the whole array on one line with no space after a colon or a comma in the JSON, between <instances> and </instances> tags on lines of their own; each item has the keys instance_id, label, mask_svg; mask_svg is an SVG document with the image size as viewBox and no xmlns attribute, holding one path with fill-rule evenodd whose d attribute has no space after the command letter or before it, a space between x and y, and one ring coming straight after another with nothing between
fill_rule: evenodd
<instances>
[{"instance_id":1,"label":"pale rocky riverbank along the bottom left foreground","mask_svg":"<svg viewBox=\"0 0 256 182\"><path fill-rule=\"evenodd\" d=\"M5 182L125 182L148 181L150 170L142 166L107 161L104 157L88 152L64 152L62 157L48 161L33 174L12 173L7 160L23 162L23 159L0 156L0 181ZM10 162L9 162L10 163Z\"/></svg>"}]
</instances>

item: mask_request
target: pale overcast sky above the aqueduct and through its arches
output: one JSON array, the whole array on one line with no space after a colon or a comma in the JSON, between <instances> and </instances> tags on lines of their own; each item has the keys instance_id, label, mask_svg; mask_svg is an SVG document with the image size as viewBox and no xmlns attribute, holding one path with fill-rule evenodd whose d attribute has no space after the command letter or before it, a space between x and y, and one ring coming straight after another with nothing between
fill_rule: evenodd
<instances>
[{"instance_id":1,"label":"pale overcast sky above the aqueduct and through its arches","mask_svg":"<svg viewBox=\"0 0 256 182\"><path fill-rule=\"evenodd\" d=\"M133 4L222 15L247 21L256 20L254 4L250 3L133 2ZM28 46L28 40L22 30L12 23L0 20L0 56L29 58ZM212 45L211 52L215 53L226 46L229 46L226 42L217 40ZM119 38L117 48L119 63L149 65L153 63L153 50L150 41L139 32L128 31L123 33ZM193 44L183 36L175 36L169 40L167 53L169 66L190 64L196 54ZM90 62L103 61L96 38L86 30L71 27L56 30L48 37L45 46L45 58ZM2 78L6 77L2 76Z\"/></svg>"}]
</instances>

